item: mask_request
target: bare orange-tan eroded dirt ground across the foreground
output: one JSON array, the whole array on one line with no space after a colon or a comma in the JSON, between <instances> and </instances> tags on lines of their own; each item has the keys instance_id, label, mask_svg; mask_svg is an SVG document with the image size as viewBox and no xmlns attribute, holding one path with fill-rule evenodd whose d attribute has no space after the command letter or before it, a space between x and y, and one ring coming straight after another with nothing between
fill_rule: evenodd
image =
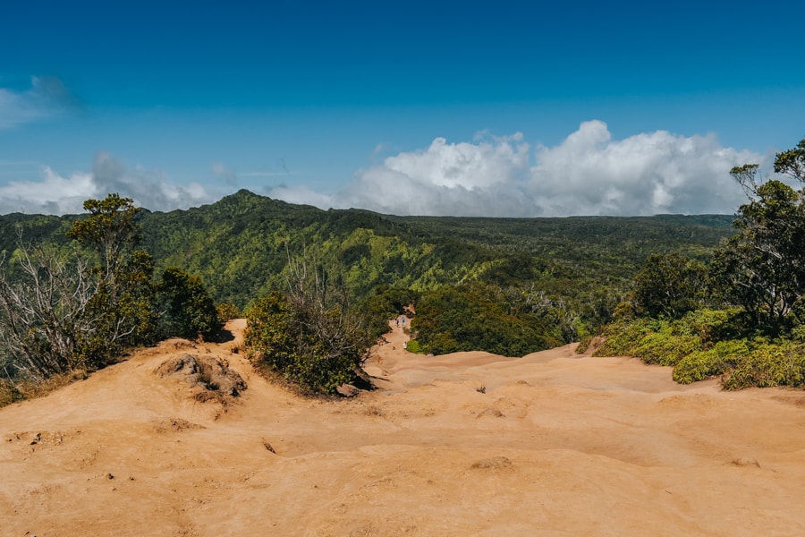
<instances>
[{"instance_id":1,"label":"bare orange-tan eroded dirt ground across the foreground","mask_svg":"<svg viewBox=\"0 0 805 537\"><path fill-rule=\"evenodd\" d=\"M172 340L0 410L0 534L805 534L801 391L682 387L572 346L428 358L386 339L367 367L381 389L351 400L267 383L238 340ZM202 403L155 374L186 354L249 388Z\"/></svg>"}]
</instances>

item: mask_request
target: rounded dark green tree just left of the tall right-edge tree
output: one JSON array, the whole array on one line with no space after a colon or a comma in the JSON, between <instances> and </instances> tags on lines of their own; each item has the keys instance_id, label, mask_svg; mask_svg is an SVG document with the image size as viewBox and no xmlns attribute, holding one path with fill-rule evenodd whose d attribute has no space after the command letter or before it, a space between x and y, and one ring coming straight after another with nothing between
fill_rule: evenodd
<instances>
[{"instance_id":1,"label":"rounded dark green tree just left of the tall right-edge tree","mask_svg":"<svg viewBox=\"0 0 805 537\"><path fill-rule=\"evenodd\" d=\"M635 275L635 309L649 317L679 319L700 304L707 268L677 254L652 254Z\"/></svg>"}]
</instances>

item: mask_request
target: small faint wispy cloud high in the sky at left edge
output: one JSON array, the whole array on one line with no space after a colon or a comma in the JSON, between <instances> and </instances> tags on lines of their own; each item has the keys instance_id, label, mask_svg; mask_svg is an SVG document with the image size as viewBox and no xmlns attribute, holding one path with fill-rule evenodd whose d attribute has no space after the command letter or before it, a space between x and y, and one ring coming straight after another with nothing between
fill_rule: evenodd
<instances>
[{"instance_id":1,"label":"small faint wispy cloud high in the sky at left edge","mask_svg":"<svg viewBox=\"0 0 805 537\"><path fill-rule=\"evenodd\" d=\"M30 89L0 88L0 129L11 129L80 108L80 103L57 77L32 77Z\"/></svg>"}]
</instances>

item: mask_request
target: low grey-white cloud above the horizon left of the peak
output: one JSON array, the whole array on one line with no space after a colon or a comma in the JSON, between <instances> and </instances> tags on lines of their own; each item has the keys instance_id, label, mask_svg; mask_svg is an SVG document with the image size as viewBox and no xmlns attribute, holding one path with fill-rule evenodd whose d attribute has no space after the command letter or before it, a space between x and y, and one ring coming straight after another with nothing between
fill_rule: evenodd
<instances>
[{"instance_id":1,"label":"low grey-white cloud above the horizon left of the peak","mask_svg":"<svg viewBox=\"0 0 805 537\"><path fill-rule=\"evenodd\" d=\"M77 214L83 202L117 192L151 210L188 209L221 197L199 183L175 185L162 172L141 167L127 169L106 151L97 153L91 172L57 174L50 167L41 171L36 182L12 181L0 186L0 214Z\"/></svg>"}]
</instances>

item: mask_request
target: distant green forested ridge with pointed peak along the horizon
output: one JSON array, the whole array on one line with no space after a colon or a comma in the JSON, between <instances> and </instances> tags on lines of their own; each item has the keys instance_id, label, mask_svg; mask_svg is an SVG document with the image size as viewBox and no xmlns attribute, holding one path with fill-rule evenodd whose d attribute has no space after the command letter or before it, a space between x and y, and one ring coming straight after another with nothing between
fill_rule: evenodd
<instances>
[{"instance_id":1,"label":"distant green forested ridge with pointed peak along the horizon","mask_svg":"<svg viewBox=\"0 0 805 537\"><path fill-rule=\"evenodd\" d=\"M0 251L15 250L17 225L26 242L68 243L64 232L80 217L2 216ZM242 190L199 208L143 210L140 226L155 273L182 268L201 277L218 303L239 308L284 288L289 258L304 255L359 300L384 285L426 292L474 284L503 294L516 288L540 307L561 304L589 328L608 320L650 254L707 261L733 235L733 219L393 217Z\"/></svg>"}]
</instances>

